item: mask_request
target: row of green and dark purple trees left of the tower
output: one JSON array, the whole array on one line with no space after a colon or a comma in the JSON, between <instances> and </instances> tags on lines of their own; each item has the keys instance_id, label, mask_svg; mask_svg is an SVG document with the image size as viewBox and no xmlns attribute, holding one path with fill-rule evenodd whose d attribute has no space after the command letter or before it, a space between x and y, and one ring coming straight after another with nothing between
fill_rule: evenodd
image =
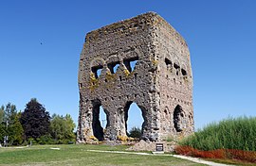
<instances>
[{"instance_id":1,"label":"row of green and dark purple trees left of the tower","mask_svg":"<svg viewBox=\"0 0 256 166\"><path fill-rule=\"evenodd\" d=\"M32 98L24 111L8 103L0 108L0 144L27 145L73 143L75 123L69 114L53 114L50 117L46 108Z\"/></svg>"}]
</instances>

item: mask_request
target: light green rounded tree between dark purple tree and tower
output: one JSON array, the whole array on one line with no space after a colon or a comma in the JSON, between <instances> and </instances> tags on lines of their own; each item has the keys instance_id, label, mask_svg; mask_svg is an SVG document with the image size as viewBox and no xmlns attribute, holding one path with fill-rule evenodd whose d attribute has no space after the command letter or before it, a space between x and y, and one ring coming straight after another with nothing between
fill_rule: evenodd
<instances>
[{"instance_id":1,"label":"light green rounded tree between dark purple tree and tower","mask_svg":"<svg viewBox=\"0 0 256 166\"><path fill-rule=\"evenodd\" d=\"M53 114L50 122L52 138L59 143L74 141L75 134L73 130L75 126L76 125L69 114L66 114L64 117L58 114Z\"/></svg>"}]
</instances>

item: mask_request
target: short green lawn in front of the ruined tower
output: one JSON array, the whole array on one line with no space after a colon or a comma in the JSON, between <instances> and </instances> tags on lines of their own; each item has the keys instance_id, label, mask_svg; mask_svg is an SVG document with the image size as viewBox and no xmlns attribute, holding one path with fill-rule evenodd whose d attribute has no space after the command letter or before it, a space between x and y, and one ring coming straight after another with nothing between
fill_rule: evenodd
<instances>
[{"instance_id":1,"label":"short green lawn in front of the ruined tower","mask_svg":"<svg viewBox=\"0 0 256 166\"><path fill-rule=\"evenodd\" d=\"M60 148L53 150L50 148ZM124 151L127 146L34 145L25 148L0 148L0 165L203 165L170 156L140 156L88 152L87 150Z\"/></svg>"}]
</instances>

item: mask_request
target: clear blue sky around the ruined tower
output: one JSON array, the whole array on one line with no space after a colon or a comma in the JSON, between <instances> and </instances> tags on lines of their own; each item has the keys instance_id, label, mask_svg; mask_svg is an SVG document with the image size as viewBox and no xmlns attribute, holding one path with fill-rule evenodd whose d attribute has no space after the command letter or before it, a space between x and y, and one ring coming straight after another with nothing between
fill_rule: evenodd
<instances>
[{"instance_id":1,"label":"clear blue sky around the ruined tower","mask_svg":"<svg viewBox=\"0 0 256 166\"><path fill-rule=\"evenodd\" d=\"M85 34L155 11L189 44L195 128L256 116L255 8L255 0L1 1L0 105L24 110L36 97L50 114L69 113L77 122Z\"/></svg>"}]
</instances>

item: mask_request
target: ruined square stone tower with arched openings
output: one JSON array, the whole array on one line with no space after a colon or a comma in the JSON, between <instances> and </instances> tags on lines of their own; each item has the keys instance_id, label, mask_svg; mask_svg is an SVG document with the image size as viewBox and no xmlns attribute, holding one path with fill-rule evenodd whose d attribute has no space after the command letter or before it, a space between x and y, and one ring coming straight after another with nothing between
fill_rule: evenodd
<instances>
[{"instance_id":1,"label":"ruined square stone tower with arched openings","mask_svg":"<svg viewBox=\"0 0 256 166\"><path fill-rule=\"evenodd\" d=\"M79 88L78 142L125 138L132 103L141 109L144 140L162 141L193 132L188 45L154 12L86 35ZM107 115L105 129L99 120L100 107Z\"/></svg>"}]
</instances>

